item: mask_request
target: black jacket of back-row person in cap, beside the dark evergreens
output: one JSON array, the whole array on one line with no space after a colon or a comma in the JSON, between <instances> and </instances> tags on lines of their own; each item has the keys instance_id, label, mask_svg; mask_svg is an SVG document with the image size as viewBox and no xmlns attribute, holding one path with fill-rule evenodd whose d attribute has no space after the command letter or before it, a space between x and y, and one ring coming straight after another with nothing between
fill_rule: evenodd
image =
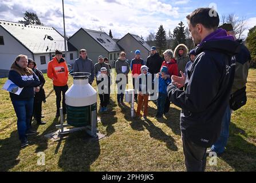
<instances>
[{"instance_id":1,"label":"black jacket of back-row person in cap, beside the dark evergreens","mask_svg":"<svg viewBox=\"0 0 256 183\"><path fill-rule=\"evenodd\" d=\"M151 74L159 73L164 59L160 57L159 53L149 55L147 58L146 66L148 67L148 72Z\"/></svg>"}]
</instances>

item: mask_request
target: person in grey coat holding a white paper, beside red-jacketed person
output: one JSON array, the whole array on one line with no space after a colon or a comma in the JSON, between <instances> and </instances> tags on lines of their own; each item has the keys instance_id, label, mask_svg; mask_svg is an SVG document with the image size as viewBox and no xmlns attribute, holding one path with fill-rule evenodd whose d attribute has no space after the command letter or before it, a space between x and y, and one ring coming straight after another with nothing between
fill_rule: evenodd
<instances>
[{"instance_id":1,"label":"person in grey coat holding a white paper, beside red-jacketed person","mask_svg":"<svg viewBox=\"0 0 256 183\"><path fill-rule=\"evenodd\" d=\"M116 83L119 83L122 81L122 79L118 76L118 74L125 74L126 75L126 81L125 83L128 83L128 73L130 71L129 69L129 63L125 61L125 53L122 51L120 53L119 59L115 63L115 69L116 69ZM119 105L124 104L124 90L125 87L121 85L120 87L117 86L117 102Z\"/></svg>"}]
</instances>

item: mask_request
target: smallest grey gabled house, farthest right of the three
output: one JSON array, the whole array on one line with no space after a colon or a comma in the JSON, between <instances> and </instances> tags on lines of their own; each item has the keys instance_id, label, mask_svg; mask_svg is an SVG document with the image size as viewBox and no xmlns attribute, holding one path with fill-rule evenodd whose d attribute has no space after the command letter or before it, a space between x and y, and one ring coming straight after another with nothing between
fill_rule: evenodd
<instances>
[{"instance_id":1,"label":"smallest grey gabled house, farthest right of the three","mask_svg":"<svg viewBox=\"0 0 256 183\"><path fill-rule=\"evenodd\" d=\"M127 54L126 58L129 59L129 61L135 58L136 50L140 50L141 58L144 59L144 61L147 61L151 47L143 39L141 39L139 35L128 33L117 41L117 44L124 49L125 53Z\"/></svg>"}]
</instances>

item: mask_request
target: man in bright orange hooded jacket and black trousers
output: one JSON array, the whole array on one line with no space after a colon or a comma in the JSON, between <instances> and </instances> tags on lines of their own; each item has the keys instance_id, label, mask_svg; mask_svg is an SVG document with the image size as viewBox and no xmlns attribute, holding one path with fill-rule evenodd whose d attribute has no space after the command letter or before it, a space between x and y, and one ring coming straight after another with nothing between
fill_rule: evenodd
<instances>
[{"instance_id":1,"label":"man in bright orange hooded jacket and black trousers","mask_svg":"<svg viewBox=\"0 0 256 183\"><path fill-rule=\"evenodd\" d=\"M60 50L55 51L55 57L48 63L47 76L53 80L53 89L56 94L56 117L60 116L61 92L62 92L62 109L66 114L65 93L68 90L68 66L65 59L62 58Z\"/></svg>"}]
</instances>

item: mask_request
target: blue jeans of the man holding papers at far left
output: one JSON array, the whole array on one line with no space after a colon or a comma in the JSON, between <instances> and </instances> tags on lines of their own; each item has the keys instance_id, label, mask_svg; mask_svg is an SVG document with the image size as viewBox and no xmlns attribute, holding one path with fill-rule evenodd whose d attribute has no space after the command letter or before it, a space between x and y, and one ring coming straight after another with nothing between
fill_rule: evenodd
<instances>
[{"instance_id":1,"label":"blue jeans of the man holding papers at far left","mask_svg":"<svg viewBox=\"0 0 256 183\"><path fill-rule=\"evenodd\" d=\"M27 101L15 101L13 100L13 108L18 118L18 134L19 140L24 140L26 136L26 130L30 129L30 119L33 114L33 102L34 98Z\"/></svg>"}]
</instances>

